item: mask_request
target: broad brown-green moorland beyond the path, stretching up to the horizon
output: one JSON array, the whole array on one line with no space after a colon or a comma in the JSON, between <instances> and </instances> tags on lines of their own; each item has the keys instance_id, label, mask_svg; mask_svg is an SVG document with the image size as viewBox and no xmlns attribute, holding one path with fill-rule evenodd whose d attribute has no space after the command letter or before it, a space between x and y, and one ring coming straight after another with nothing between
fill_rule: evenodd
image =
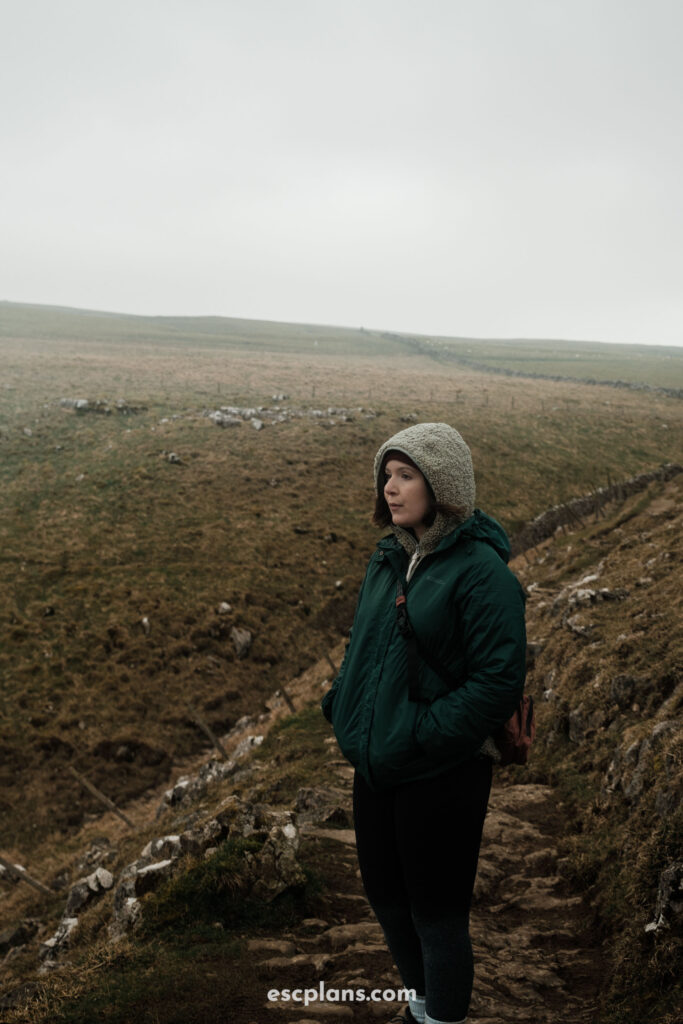
<instances>
[{"instance_id":1,"label":"broad brown-green moorland beyond the path, stretching up to the horizon","mask_svg":"<svg viewBox=\"0 0 683 1024\"><path fill-rule=\"evenodd\" d=\"M510 531L683 450L673 398L490 376L395 336L0 313L0 813L17 859L98 812L67 766L125 803L204 743L190 699L227 729L338 642L378 536L372 460L413 418L461 430ZM287 418L220 429L205 414L227 404ZM232 627L253 634L246 658Z\"/></svg>"}]
</instances>

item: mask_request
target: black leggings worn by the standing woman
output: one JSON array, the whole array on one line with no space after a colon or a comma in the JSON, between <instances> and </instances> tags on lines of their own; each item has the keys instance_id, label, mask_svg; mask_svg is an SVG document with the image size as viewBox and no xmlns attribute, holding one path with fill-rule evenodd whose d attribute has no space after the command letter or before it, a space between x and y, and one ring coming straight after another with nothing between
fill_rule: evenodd
<instances>
[{"instance_id":1,"label":"black leggings worn by the standing woman","mask_svg":"<svg viewBox=\"0 0 683 1024\"><path fill-rule=\"evenodd\" d=\"M440 1021L466 1017L472 994L469 911L490 779L483 757L384 793L353 779L368 899L403 985Z\"/></svg>"}]
</instances>

